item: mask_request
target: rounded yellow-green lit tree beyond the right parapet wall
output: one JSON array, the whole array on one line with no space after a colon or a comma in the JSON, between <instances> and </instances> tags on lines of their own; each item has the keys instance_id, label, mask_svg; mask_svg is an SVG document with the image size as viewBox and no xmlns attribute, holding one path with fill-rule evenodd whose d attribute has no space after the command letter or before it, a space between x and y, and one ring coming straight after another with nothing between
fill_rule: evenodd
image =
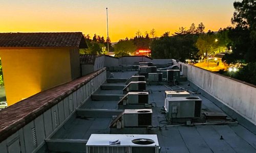
<instances>
[{"instance_id":1,"label":"rounded yellow-green lit tree beyond the right parapet wall","mask_svg":"<svg viewBox=\"0 0 256 153\"><path fill-rule=\"evenodd\" d=\"M207 56L214 53L215 50L218 48L218 44L215 40L216 36L212 33L200 35L197 39L196 46L199 49L199 54L204 57L205 62Z\"/></svg>"}]
</instances>

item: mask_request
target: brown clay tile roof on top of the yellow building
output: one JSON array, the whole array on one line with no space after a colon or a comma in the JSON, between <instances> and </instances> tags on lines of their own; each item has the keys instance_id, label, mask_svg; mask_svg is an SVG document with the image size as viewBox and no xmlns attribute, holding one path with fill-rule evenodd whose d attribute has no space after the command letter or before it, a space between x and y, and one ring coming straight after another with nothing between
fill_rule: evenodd
<instances>
[{"instance_id":1,"label":"brown clay tile roof on top of the yellow building","mask_svg":"<svg viewBox=\"0 0 256 153\"><path fill-rule=\"evenodd\" d=\"M1 47L77 47L87 48L81 32L0 33Z\"/></svg>"}]
</instances>

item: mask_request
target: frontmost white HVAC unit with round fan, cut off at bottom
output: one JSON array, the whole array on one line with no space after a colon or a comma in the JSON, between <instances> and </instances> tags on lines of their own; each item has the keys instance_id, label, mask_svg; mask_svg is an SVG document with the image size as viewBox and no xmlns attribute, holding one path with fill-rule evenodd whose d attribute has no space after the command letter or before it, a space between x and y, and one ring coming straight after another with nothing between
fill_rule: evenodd
<instances>
[{"instance_id":1,"label":"frontmost white HVAC unit with round fan, cut off at bottom","mask_svg":"<svg viewBox=\"0 0 256 153\"><path fill-rule=\"evenodd\" d=\"M159 153L157 135L92 134L87 153Z\"/></svg>"}]
</instances>

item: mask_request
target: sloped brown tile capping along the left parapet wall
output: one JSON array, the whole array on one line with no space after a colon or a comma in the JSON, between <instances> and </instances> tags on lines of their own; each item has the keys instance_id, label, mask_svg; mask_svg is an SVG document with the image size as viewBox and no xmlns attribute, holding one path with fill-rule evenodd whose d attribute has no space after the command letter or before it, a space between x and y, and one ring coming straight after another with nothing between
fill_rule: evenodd
<instances>
[{"instance_id":1,"label":"sloped brown tile capping along the left parapet wall","mask_svg":"<svg viewBox=\"0 0 256 153\"><path fill-rule=\"evenodd\" d=\"M105 69L102 68L69 83L39 92L0 111L0 143Z\"/></svg>"}]
</instances>

